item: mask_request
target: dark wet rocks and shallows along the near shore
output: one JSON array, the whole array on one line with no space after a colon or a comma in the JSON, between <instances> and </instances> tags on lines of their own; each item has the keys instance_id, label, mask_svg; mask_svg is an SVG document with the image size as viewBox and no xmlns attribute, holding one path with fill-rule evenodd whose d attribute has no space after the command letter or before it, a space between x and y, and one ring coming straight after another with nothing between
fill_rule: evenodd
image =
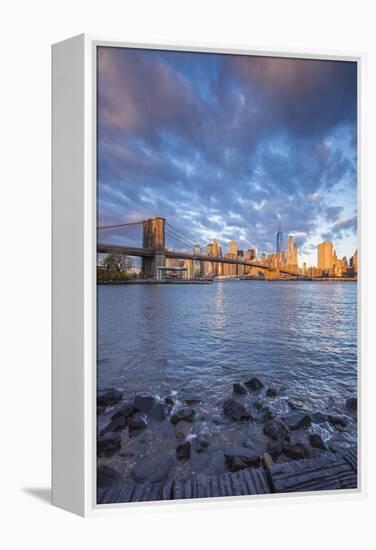
<instances>
[{"instance_id":1,"label":"dark wet rocks and shallows along the near shore","mask_svg":"<svg viewBox=\"0 0 376 550\"><path fill-rule=\"evenodd\" d=\"M136 395L129 401L116 388L98 390L98 488L194 480L203 471L238 476L282 465L291 472L301 463L342 459L346 449L323 434L328 429L341 434L356 423L357 398L344 400L339 414L312 411L298 397L284 396L285 410L276 411L280 393L252 376L234 383L221 414L207 419L197 396Z\"/></svg>"}]
</instances>

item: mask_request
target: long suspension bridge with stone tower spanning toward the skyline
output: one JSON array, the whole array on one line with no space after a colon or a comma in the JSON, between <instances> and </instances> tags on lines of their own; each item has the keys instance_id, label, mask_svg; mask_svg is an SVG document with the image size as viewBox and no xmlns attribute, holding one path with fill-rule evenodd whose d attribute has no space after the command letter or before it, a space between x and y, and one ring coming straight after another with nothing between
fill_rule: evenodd
<instances>
[{"instance_id":1,"label":"long suspension bridge with stone tower spanning toward the skyline","mask_svg":"<svg viewBox=\"0 0 376 550\"><path fill-rule=\"evenodd\" d=\"M141 235L137 235L140 232ZM180 249L176 249L177 247ZM189 236L171 226L162 217L98 227L97 253L141 258L141 277L145 279L160 279L162 270L168 269L168 258L248 266L264 272L265 278L306 278L298 271L289 269L289 266L276 267L265 261L241 256L231 258L229 255L209 254L207 249L195 244Z\"/></svg>"}]
</instances>

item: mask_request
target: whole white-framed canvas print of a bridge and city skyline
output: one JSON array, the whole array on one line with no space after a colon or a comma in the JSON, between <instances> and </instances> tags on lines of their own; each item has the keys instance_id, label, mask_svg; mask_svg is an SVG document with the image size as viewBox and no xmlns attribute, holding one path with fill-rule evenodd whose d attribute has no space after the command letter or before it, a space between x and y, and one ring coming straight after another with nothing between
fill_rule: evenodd
<instances>
[{"instance_id":1,"label":"whole white-framed canvas print of a bridge and city skyline","mask_svg":"<svg viewBox=\"0 0 376 550\"><path fill-rule=\"evenodd\" d=\"M56 505L361 494L361 69L54 45Z\"/></svg>"}]
</instances>

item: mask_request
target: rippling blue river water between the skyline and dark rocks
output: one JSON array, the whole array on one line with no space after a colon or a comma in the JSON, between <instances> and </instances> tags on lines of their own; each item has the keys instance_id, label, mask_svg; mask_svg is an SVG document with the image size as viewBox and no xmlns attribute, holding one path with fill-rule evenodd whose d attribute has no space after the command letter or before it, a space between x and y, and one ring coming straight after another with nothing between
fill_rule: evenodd
<instances>
[{"instance_id":1,"label":"rippling blue river water between the skyline and dark rocks","mask_svg":"<svg viewBox=\"0 0 376 550\"><path fill-rule=\"evenodd\" d=\"M277 389L267 400L279 417L288 398L305 410L345 414L357 386L357 284L340 282L223 281L211 285L99 285L98 388L123 391L125 400L151 395L163 402L198 400L189 437L202 435L210 452L177 468L184 475L223 469L221 446L263 451L256 423L223 420L232 385L251 377ZM262 396L264 399L264 396ZM252 408L251 397L240 400ZM98 417L99 428L111 416ZM356 420L345 430L313 424L327 445L356 444ZM122 432L121 452L103 462L124 477L145 455L175 456L169 422L134 438ZM157 458L156 458L157 460Z\"/></svg>"}]
</instances>

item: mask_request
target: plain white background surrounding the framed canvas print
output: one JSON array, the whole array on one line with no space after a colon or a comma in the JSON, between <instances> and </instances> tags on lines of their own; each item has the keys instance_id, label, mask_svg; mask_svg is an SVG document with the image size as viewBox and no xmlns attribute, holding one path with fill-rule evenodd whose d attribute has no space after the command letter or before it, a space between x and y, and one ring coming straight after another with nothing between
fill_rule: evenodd
<instances>
[{"instance_id":1,"label":"plain white background surrounding the framed canvas print","mask_svg":"<svg viewBox=\"0 0 376 550\"><path fill-rule=\"evenodd\" d=\"M12 0L1 8L0 502L3 548L354 548L375 544L376 39L372 1ZM133 509L83 520L46 502L50 479L50 44L88 32L368 52L368 497ZM373 219L372 219L373 218ZM376 239L376 237L374 237ZM373 255L373 258L371 257ZM373 323L373 325L372 325ZM69 396L67 395L67 406Z\"/></svg>"}]
</instances>

